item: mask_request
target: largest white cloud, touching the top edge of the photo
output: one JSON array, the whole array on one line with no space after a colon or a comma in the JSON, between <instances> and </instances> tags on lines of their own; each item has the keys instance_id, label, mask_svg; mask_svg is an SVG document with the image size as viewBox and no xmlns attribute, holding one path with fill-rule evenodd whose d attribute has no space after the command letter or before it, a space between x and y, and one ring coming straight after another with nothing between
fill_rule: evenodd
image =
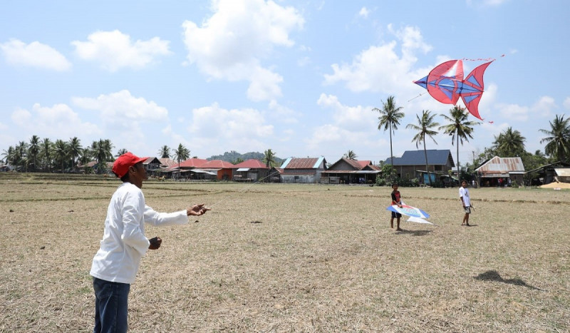
<instances>
[{"instance_id":1,"label":"largest white cloud, touching the top edge of the photo","mask_svg":"<svg viewBox=\"0 0 570 333\"><path fill-rule=\"evenodd\" d=\"M212 1L214 14L198 27L182 24L187 59L209 78L249 81L247 96L266 101L281 96L283 78L261 65L275 46L291 47L291 31L301 29L303 17L293 7L273 1Z\"/></svg>"}]
</instances>

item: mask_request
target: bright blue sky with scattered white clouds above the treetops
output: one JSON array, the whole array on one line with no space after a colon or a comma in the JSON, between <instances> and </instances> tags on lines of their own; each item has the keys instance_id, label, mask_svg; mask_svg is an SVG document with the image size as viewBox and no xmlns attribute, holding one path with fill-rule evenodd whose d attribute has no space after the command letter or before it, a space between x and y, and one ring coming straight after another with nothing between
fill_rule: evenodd
<instances>
[{"instance_id":1,"label":"bright blue sky with scattered white clouds above the treetops","mask_svg":"<svg viewBox=\"0 0 570 333\"><path fill-rule=\"evenodd\" d=\"M412 81L497 58L461 162L509 126L544 151L539 129L570 113L569 17L563 0L5 1L0 150L38 135L137 155L182 143L199 158L271 148L333 163L353 150L378 163L390 145L373 108L395 96L394 155L415 150L406 125L452 106ZM435 140L455 160L450 137Z\"/></svg>"}]
</instances>

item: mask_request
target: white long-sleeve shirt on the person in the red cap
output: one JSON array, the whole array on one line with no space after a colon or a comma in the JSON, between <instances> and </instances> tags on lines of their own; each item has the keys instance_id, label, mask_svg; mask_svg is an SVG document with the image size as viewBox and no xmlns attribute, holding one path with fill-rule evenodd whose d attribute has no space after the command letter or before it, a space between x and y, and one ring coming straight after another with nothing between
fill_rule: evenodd
<instances>
[{"instance_id":1,"label":"white long-sleeve shirt on the person in the red cap","mask_svg":"<svg viewBox=\"0 0 570 333\"><path fill-rule=\"evenodd\" d=\"M150 242L145 236L145 222L152 225L188 223L186 210L156 212L145 204L140 188L123 183L113 194L105 218L105 232L93 257L90 275L98 279L132 284L140 258Z\"/></svg>"}]
</instances>

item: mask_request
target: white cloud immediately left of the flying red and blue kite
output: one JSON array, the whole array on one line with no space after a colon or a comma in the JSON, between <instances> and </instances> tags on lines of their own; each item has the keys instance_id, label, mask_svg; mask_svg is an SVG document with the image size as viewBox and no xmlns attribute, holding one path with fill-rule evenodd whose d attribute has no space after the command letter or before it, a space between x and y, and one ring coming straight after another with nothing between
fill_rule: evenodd
<instances>
[{"instance_id":1,"label":"white cloud immediately left of the flying red and blue kite","mask_svg":"<svg viewBox=\"0 0 570 333\"><path fill-rule=\"evenodd\" d=\"M391 26L388 26L393 31ZM410 69L417 61L414 52L418 49L427 52L431 46L423 42L420 30L406 26L399 31L393 31L401 43L402 56L395 51L397 41L390 41L380 46L371 46L361 51L353 58L351 64L334 63L331 68L333 74L324 76L326 84L339 81L346 82L351 91L373 91L391 93L394 90L412 93L413 86L410 81L417 80L415 73Z\"/></svg>"}]
</instances>

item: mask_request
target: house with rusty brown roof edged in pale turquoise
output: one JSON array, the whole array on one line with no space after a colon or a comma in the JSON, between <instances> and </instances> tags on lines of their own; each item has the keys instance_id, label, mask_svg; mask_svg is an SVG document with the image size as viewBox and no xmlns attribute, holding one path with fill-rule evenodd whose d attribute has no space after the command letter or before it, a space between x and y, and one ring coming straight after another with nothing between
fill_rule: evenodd
<instances>
[{"instance_id":1,"label":"house with rusty brown roof edged in pale turquoise","mask_svg":"<svg viewBox=\"0 0 570 333\"><path fill-rule=\"evenodd\" d=\"M287 158L281 165L282 183L319 183L326 170L326 160L320 158Z\"/></svg>"}]
</instances>

